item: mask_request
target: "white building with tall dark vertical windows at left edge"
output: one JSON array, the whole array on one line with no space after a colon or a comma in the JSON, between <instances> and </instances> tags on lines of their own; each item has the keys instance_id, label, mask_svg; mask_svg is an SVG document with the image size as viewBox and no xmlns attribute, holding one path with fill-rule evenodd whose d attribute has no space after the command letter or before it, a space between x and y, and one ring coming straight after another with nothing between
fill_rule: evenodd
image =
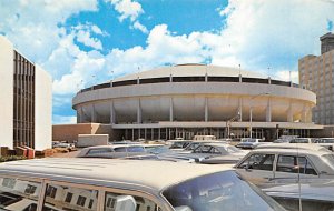
<instances>
[{"instance_id":1,"label":"white building with tall dark vertical windows at left edge","mask_svg":"<svg viewBox=\"0 0 334 211\"><path fill-rule=\"evenodd\" d=\"M51 77L1 36L0 80L0 147L51 148Z\"/></svg>"}]
</instances>

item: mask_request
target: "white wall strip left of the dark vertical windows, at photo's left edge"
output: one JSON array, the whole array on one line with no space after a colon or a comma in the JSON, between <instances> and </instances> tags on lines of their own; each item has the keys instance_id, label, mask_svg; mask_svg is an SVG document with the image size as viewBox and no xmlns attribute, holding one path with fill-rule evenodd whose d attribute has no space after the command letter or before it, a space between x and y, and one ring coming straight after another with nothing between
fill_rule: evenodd
<instances>
[{"instance_id":1,"label":"white wall strip left of the dark vertical windows, at photo's left edge","mask_svg":"<svg viewBox=\"0 0 334 211\"><path fill-rule=\"evenodd\" d=\"M0 36L0 147L13 148L13 48Z\"/></svg>"}]
</instances>

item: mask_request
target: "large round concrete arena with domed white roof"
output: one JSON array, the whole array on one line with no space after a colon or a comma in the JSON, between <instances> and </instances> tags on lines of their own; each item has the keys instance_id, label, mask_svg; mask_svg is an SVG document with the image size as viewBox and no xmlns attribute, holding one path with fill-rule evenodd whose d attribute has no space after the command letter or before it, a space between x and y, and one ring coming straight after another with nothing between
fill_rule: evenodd
<instances>
[{"instance_id":1,"label":"large round concrete arena with domed white roof","mask_svg":"<svg viewBox=\"0 0 334 211\"><path fill-rule=\"evenodd\" d=\"M118 139L128 140L274 139L277 128L279 134L308 137L322 128L312 122L315 103L315 93L297 84L203 64L125 76L82 89L72 100L78 123L109 124Z\"/></svg>"}]
</instances>

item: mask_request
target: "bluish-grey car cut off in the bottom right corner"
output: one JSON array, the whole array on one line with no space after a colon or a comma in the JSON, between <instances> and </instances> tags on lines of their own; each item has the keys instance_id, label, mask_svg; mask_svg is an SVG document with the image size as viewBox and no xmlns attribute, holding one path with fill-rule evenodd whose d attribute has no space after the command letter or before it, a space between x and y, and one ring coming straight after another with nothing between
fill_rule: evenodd
<instances>
[{"instance_id":1,"label":"bluish-grey car cut off in the bottom right corner","mask_svg":"<svg viewBox=\"0 0 334 211\"><path fill-rule=\"evenodd\" d=\"M316 180L308 183L284 184L263 189L287 210L333 211L334 181ZM301 205L299 208L299 200Z\"/></svg>"}]
</instances>

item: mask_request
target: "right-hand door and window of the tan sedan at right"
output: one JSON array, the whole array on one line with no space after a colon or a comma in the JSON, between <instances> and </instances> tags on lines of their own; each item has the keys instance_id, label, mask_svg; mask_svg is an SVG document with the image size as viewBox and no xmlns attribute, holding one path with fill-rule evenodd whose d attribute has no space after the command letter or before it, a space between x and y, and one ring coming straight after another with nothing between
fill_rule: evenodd
<instances>
[{"instance_id":1,"label":"right-hand door and window of the tan sedan at right","mask_svg":"<svg viewBox=\"0 0 334 211\"><path fill-rule=\"evenodd\" d=\"M316 169L310 158L295 154L278 154L275 170L275 180L295 182L299 178L318 178Z\"/></svg>"}]
</instances>

